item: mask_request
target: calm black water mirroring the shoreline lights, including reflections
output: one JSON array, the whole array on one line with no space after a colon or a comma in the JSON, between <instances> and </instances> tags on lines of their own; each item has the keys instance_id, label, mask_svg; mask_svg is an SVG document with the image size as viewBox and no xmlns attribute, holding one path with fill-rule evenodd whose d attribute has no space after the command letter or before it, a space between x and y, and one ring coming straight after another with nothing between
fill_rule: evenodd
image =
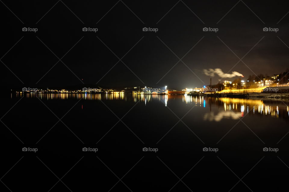
<instances>
[{"instance_id":1,"label":"calm black water mirroring the shoreline lights, including reflections","mask_svg":"<svg viewBox=\"0 0 289 192\"><path fill-rule=\"evenodd\" d=\"M0 191L289 191L288 103L9 95Z\"/></svg>"}]
</instances>

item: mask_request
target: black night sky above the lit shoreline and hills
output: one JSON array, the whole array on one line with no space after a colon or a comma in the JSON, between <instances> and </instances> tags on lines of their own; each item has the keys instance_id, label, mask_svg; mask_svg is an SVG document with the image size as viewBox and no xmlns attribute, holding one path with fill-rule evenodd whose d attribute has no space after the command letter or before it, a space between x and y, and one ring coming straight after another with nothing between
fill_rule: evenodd
<instances>
[{"instance_id":1,"label":"black night sky above the lit shoreline and hills","mask_svg":"<svg viewBox=\"0 0 289 192\"><path fill-rule=\"evenodd\" d=\"M7 7L0 3L0 57L23 83L0 63L2 86L51 87L84 82L201 87L210 83L204 69L221 68L227 73L249 51L242 59L247 66L240 61L231 72L238 71L246 78L289 68L286 2L177 2L3 0ZM23 32L23 27L38 31ZM98 32L83 32L83 27L98 28ZM158 31L143 32L143 27ZM204 27L218 28L218 32L204 32ZM264 27L279 31L263 32ZM218 79L213 77L212 83Z\"/></svg>"}]
</instances>

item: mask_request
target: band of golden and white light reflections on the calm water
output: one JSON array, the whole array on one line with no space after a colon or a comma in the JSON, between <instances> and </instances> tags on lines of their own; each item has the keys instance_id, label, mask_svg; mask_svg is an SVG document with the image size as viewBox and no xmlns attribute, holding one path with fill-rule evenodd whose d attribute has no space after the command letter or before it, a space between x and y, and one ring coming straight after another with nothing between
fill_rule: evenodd
<instances>
[{"instance_id":1,"label":"band of golden and white light reflections on the calm water","mask_svg":"<svg viewBox=\"0 0 289 192\"><path fill-rule=\"evenodd\" d=\"M191 105L201 108L210 108L210 112L204 112L204 120L219 122L222 119L241 119L246 114L268 116L274 118L286 118L289 120L288 100L280 99L260 99L260 98L217 98L207 96L189 95L142 95L142 94L18 94L17 97L40 99L84 99L84 100L123 100L140 101L144 105L151 102L160 101L165 107L173 100L181 104ZM168 106L169 107L169 106ZM212 108L216 108L213 111Z\"/></svg>"}]
</instances>

